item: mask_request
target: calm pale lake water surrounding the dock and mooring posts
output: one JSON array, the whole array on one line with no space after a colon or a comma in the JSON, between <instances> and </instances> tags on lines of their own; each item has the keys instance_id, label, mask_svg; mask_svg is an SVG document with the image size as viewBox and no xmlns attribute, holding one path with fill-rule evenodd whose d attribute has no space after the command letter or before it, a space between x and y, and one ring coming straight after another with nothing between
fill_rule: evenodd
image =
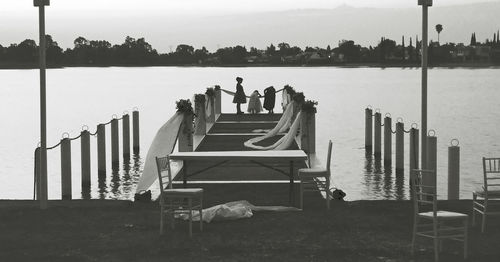
<instances>
[{"instance_id":1,"label":"calm pale lake water surrounding the dock and mooring posts","mask_svg":"<svg viewBox=\"0 0 500 262\"><path fill-rule=\"evenodd\" d=\"M349 200L408 197L408 168L396 176L389 168L366 158L364 108L402 117L408 129L420 121L420 70L379 68L67 68L47 73L48 145L62 133L77 136L82 125L94 132L98 123L121 116L134 107L141 113L141 153L122 169L98 181L96 139L91 138L92 198L130 199L142 159L157 129L173 114L175 101L203 93L219 84L234 89L235 76L245 79L247 93L290 84L317 100L317 151L324 155L334 142L333 183ZM461 147L463 198L482 182L481 157L499 156L500 80L498 69L432 69L429 71L428 127L438 137L438 194L446 197L447 147L457 138ZM39 141L37 70L0 70L0 199L29 199L33 195L33 150ZM277 105L279 100L277 101ZM233 112L223 95L223 112ZM279 106L277 106L279 108ZM107 131L109 136L109 129ZM408 150L408 137L405 137ZM109 143L109 137L107 143ZM80 198L79 140L73 147L73 197ZM393 149L394 152L394 149ZM109 153L109 149L108 149ZM60 198L60 151L49 158L49 197ZM110 156L108 156L110 158ZM408 157L405 164L408 165ZM109 161L108 161L109 163Z\"/></svg>"}]
</instances>

